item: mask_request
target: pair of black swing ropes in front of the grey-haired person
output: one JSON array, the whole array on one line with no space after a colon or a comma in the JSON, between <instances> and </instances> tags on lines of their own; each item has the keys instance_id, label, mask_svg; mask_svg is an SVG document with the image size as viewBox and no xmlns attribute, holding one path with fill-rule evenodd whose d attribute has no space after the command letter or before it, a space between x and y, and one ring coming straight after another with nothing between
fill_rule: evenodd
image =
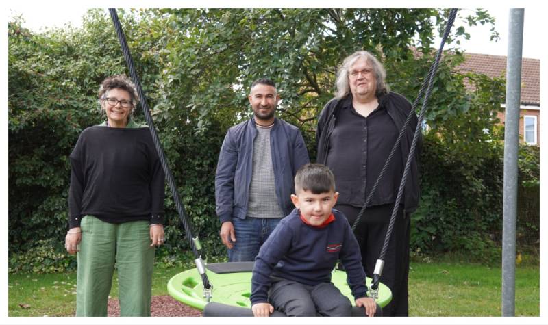
<instances>
[{"instance_id":1,"label":"pair of black swing ropes in front of the grey-haired person","mask_svg":"<svg viewBox=\"0 0 548 325\"><path fill-rule=\"evenodd\" d=\"M436 53L436 59L432 63L432 66L430 66L428 75L427 75L425 81L423 81L423 85L421 86L421 90L419 91L419 94L416 96L416 99L413 102L412 109L409 112L409 115L406 119L406 122L403 123L403 127L399 131L398 138L397 138L397 140L396 140L396 142L395 142L395 144L392 148L392 151L390 151L390 155L388 155L388 158L386 159L386 162L384 163L384 166L382 167L382 170L379 173L379 176L377 177L377 180L373 184L371 192L369 192L369 194L366 198L364 206L360 210L360 213L358 213L358 217L356 218L356 220L354 221L354 223L352 225L352 230L356 231L356 226L358 226L358 224L360 224L360 220L362 219L362 216L364 216L366 208L371 203L371 200L373 198L373 194L375 193L375 190L377 189L377 186L379 185L380 180L382 179L382 177L386 173L386 170L388 169L388 165L390 164L390 161L392 160L393 156L395 155L397 147L399 146L399 144L401 142L401 138L403 138L403 134L405 134L406 129L409 126L409 123L411 121L411 117L412 117L413 114L415 114L415 109L416 109L417 105L419 104L419 102L421 101L421 99L423 97L423 94L426 90L423 105L421 107L421 112L419 113L418 121L416 123L416 129L414 131L413 141L412 141L411 148L410 148L408 158L407 158L407 161L406 161L406 167L403 170L403 176L401 177L401 183L399 184L398 194L397 194L396 201L394 203L392 216L390 216L390 222L388 223L388 229L386 229L386 235L384 237L384 244L382 246L382 250L379 254L379 259L377 259L377 263L375 264L375 270L373 272L373 281L371 283L371 291L372 292L370 294L373 294L373 296L375 298L377 298L377 292L378 292L378 288L379 288L379 281L380 281L380 277L381 277L381 274L382 274L382 268L384 266L384 257L386 256L386 250L388 250L388 243L390 242L390 237L392 235L392 231L393 231L393 228L394 228L394 223L395 223L397 212L398 212L398 209L399 209L399 204L400 204L401 198L403 196L403 188L406 185L407 177L408 177L409 170L410 170L410 167L411 167L411 161L412 161L412 159L414 157L414 154L415 154L415 151L416 151L416 143L419 139L419 134L421 133L422 121L423 121L423 118L424 118L424 114L426 112L428 99L430 97L430 94L432 93L432 85L434 84L434 75L436 75L436 72L438 70L438 64L440 62L441 55L443 53L443 47L445 45L445 41L447 40L447 37L449 37L449 32L451 31L451 27L453 26L453 23L455 21L457 11L458 11L458 9L452 8L451 12L449 12L449 18L447 19L447 25L445 25L445 31L443 33L443 38L441 39L441 42L440 42L440 48L438 49L438 52ZM364 192L366 192L366 191L364 191Z\"/></svg>"}]
</instances>

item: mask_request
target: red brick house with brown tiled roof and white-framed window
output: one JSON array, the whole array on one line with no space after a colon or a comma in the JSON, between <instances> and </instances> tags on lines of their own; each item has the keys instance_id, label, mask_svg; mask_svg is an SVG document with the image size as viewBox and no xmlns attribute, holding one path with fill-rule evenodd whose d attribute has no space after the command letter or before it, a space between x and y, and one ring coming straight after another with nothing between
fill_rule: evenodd
<instances>
[{"instance_id":1,"label":"red brick house with brown tiled roof and white-framed window","mask_svg":"<svg viewBox=\"0 0 548 325\"><path fill-rule=\"evenodd\" d=\"M460 65L463 71L506 77L506 56L464 53L464 57ZM519 108L519 141L540 146L540 60L522 59ZM504 113L499 113L499 118L504 123Z\"/></svg>"}]
</instances>

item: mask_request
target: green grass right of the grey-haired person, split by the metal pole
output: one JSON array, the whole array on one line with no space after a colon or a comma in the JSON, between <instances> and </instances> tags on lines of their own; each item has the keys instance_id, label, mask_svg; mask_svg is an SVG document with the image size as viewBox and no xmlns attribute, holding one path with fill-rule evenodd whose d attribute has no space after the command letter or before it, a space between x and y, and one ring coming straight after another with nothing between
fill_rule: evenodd
<instances>
[{"instance_id":1,"label":"green grass right of the grey-haired person, split by the metal pole","mask_svg":"<svg viewBox=\"0 0 548 325\"><path fill-rule=\"evenodd\" d=\"M501 316L501 268L411 263L410 316ZM516 316L540 315L538 265L516 267Z\"/></svg>"}]
</instances>

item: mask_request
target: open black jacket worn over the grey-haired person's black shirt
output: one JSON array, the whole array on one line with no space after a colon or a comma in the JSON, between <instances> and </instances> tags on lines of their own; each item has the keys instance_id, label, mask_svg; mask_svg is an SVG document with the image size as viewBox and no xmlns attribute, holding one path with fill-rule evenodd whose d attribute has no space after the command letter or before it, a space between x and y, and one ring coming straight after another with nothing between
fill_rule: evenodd
<instances>
[{"instance_id":1,"label":"open black jacket worn over the grey-haired person's black shirt","mask_svg":"<svg viewBox=\"0 0 548 325\"><path fill-rule=\"evenodd\" d=\"M401 94L395 92L389 92L379 96L379 106L384 105L388 115L394 121L397 129L401 130L403 124L406 122L407 116L412 109L411 103ZM318 126L316 128L316 144L317 144L317 157L316 161L319 164L327 163L327 151L329 147L329 136L335 128L335 121L340 110L338 105L343 99L332 99L325 107L323 107L320 116L318 118ZM410 124L406 129L403 138L401 139L401 155L402 161L407 161L411 144L413 141L414 131L416 129L416 123L418 118L416 114L412 114ZM408 173L406 187L403 192L403 205L406 213L412 213L419 205L419 167L417 166L417 159L421 153L422 148L422 134L419 133L419 139L416 144L416 152L411 161L410 171ZM365 199L364 199L365 200Z\"/></svg>"}]
</instances>

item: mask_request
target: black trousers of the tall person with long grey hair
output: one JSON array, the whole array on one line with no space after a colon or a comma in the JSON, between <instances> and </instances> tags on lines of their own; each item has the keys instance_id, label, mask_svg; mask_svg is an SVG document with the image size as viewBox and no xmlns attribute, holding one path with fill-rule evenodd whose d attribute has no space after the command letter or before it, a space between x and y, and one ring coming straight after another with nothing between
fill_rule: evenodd
<instances>
[{"instance_id":1,"label":"black trousers of the tall person with long grey hair","mask_svg":"<svg viewBox=\"0 0 548 325\"><path fill-rule=\"evenodd\" d=\"M362 252L365 273L371 278L373 278L375 263L379 259L384 244L393 206L393 204L380 205L366 209L366 213L354 231ZM335 209L343 212L350 225L353 225L361 208L351 205L336 205ZM382 310L384 316L408 316L409 313L409 231L410 214L406 213L404 217L403 209L399 209L390 242L388 242L380 278L380 281L392 291L392 300Z\"/></svg>"}]
</instances>

